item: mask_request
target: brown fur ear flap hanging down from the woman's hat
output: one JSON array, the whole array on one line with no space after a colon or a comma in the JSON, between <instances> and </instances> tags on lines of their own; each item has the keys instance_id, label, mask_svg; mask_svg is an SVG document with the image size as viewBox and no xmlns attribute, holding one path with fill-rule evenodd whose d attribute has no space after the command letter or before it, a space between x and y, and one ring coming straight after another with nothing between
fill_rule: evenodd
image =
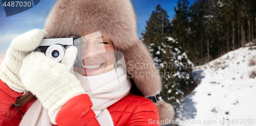
<instances>
[{"instance_id":1,"label":"brown fur ear flap hanging down from the woman's hat","mask_svg":"<svg viewBox=\"0 0 256 126\"><path fill-rule=\"evenodd\" d=\"M143 96L156 95L161 90L161 79L154 60L145 44L139 39L133 46L121 51L124 55L129 78Z\"/></svg>"}]
</instances>

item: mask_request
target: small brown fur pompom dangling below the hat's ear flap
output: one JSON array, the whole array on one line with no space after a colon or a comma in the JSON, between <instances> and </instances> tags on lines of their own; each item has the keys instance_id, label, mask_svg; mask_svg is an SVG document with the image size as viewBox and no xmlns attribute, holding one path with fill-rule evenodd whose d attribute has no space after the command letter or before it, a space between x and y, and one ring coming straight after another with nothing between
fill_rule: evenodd
<instances>
[{"instance_id":1,"label":"small brown fur pompom dangling below the hat's ear flap","mask_svg":"<svg viewBox=\"0 0 256 126\"><path fill-rule=\"evenodd\" d=\"M173 120L174 108L172 105L165 103L163 100L157 101L157 109L159 112L159 121L165 121L165 119Z\"/></svg>"}]
</instances>

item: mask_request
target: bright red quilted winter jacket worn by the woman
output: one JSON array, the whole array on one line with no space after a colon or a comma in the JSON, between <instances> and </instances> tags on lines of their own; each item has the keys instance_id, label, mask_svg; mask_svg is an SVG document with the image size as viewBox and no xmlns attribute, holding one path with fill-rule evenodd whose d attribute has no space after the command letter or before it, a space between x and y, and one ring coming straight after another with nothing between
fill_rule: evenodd
<instances>
[{"instance_id":1,"label":"bright red quilted winter jacket worn by the woman","mask_svg":"<svg viewBox=\"0 0 256 126\"><path fill-rule=\"evenodd\" d=\"M17 97L22 94L13 91L0 80L0 125L18 125L21 120L19 115L26 113L35 102L32 100L25 104L21 113L15 108L10 109ZM99 125L91 107L92 102L87 94L75 96L61 108L56 116L56 123L58 126ZM132 93L110 106L108 110L114 125L159 125L149 123L149 119L159 120L156 105L151 100Z\"/></svg>"}]
</instances>

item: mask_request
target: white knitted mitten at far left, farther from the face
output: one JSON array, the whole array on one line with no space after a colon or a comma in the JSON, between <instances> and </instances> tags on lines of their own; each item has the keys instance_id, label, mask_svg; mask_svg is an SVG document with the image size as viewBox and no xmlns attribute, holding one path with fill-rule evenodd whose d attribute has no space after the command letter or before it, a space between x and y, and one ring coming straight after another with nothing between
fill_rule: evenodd
<instances>
[{"instance_id":1,"label":"white knitted mitten at far left, farther from the face","mask_svg":"<svg viewBox=\"0 0 256 126\"><path fill-rule=\"evenodd\" d=\"M26 90L20 82L20 67L23 59L39 46L46 35L45 30L34 29L12 40L0 67L0 79L12 90L17 92Z\"/></svg>"}]
</instances>

